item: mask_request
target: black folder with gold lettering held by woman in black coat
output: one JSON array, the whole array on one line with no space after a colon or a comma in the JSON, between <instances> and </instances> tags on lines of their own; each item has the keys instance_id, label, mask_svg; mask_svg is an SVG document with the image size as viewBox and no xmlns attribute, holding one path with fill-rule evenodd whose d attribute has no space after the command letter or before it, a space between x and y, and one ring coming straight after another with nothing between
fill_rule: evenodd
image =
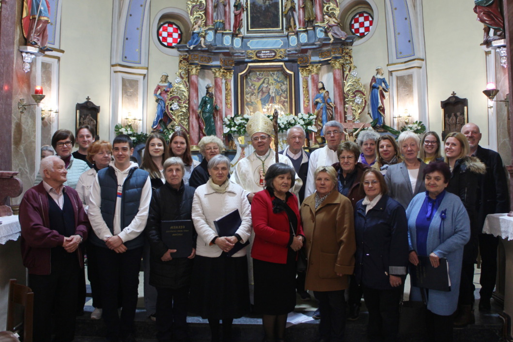
<instances>
[{"instance_id":1,"label":"black folder with gold lettering held by woman in black coat","mask_svg":"<svg viewBox=\"0 0 513 342\"><path fill-rule=\"evenodd\" d=\"M186 258L192 253L192 231L194 225L190 219L162 221L162 241L168 249L175 249L172 258Z\"/></svg>"}]
</instances>

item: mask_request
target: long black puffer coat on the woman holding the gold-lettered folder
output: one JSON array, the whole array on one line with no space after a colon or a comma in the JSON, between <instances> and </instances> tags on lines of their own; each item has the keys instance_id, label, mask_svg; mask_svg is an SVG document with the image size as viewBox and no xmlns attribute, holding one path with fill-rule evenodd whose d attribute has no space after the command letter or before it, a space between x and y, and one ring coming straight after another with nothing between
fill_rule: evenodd
<instances>
[{"instance_id":1,"label":"long black puffer coat on the woman holding the gold-lettered folder","mask_svg":"<svg viewBox=\"0 0 513 342\"><path fill-rule=\"evenodd\" d=\"M168 247L162 241L161 222L164 220L192 219L194 188L184 185L179 190L168 183L153 191L144 233L150 243L150 285L154 287L180 289L189 286L192 260L172 258L162 261ZM196 248L196 232L192 232L191 245ZM171 254L171 257L173 254Z\"/></svg>"}]
</instances>

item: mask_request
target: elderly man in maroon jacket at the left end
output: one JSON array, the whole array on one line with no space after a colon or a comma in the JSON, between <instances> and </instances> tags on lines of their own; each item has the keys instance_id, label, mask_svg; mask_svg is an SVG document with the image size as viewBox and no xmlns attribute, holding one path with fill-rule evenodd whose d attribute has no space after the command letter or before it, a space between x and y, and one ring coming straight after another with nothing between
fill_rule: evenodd
<instances>
[{"instance_id":1,"label":"elderly man in maroon jacket at the left end","mask_svg":"<svg viewBox=\"0 0 513 342\"><path fill-rule=\"evenodd\" d=\"M30 188L19 205L23 265L34 292L34 342L72 341L77 284L84 267L79 245L90 229L82 201L64 186L67 170L57 156L41 160L43 182Z\"/></svg>"}]
</instances>

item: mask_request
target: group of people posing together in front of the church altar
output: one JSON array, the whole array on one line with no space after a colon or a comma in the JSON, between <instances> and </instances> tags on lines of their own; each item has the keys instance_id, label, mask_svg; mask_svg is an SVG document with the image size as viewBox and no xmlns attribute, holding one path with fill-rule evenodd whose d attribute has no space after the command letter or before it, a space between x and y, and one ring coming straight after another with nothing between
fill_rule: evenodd
<instances>
[{"instance_id":1,"label":"group of people posing together in front of the church altar","mask_svg":"<svg viewBox=\"0 0 513 342\"><path fill-rule=\"evenodd\" d=\"M145 306L160 341L190 340L187 312L208 319L212 341L231 341L233 319L251 304L262 314L265 340L283 341L296 293L306 299L305 290L319 301L320 341L344 340L345 321L358 318L362 296L369 339L394 341L408 266L418 256L433 267L440 258L450 265L450 292L410 290L410 298L426 300L430 340L450 341L453 325L473 323L478 245L479 309L490 309L498 242L481 229L486 214L506 212L509 204L501 158L478 145L476 125L448 134L444 146L435 132L422 139L403 132L396 142L372 130L355 144L342 142L342 125L330 121L326 146L311 154L298 126L278 157L267 117L254 114L247 133L254 152L230 175L232 161L215 136L201 139L198 163L183 131L169 145L151 134L139 167L126 135L112 145L93 142L94 132L81 127L81 147L71 155L73 134L55 132L57 155L42 159L41 183L26 192L19 211L36 340L51 339L51 307L55 339L73 340L84 307L84 252L92 318L103 317L110 341L135 340L141 259ZM234 211L241 223L223 236L216 221ZM191 222L192 238L171 249L163 223L176 220ZM173 256L182 248L190 253Z\"/></svg>"}]
</instances>

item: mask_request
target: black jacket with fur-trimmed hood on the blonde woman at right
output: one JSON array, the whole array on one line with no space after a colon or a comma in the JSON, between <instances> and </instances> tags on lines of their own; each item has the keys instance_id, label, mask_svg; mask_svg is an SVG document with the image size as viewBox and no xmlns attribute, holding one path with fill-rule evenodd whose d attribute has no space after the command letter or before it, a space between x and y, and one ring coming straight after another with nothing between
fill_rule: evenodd
<instances>
[{"instance_id":1,"label":"black jacket with fur-trimmed hood on the blonde woman at right","mask_svg":"<svg viewBox=\"0 0 513 342\"><path fill-rule=\"evenodd\" d=\"M470 218L472 240L477 237L482 227L478 225L478 207L481 198L480 177L486 173L486 166L477 157L465 156L456 160L452 168L447 191L460 197Z\"/></svg>"}]
</instances>

